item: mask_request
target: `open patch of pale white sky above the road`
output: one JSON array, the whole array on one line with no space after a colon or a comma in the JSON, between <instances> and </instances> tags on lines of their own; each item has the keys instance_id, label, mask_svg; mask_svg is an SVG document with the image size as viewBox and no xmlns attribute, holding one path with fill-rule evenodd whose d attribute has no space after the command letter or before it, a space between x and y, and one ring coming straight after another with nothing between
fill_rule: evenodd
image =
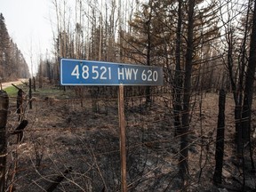
<instances>
[{"instance_id":1,"label":"open patch of pale white sky above the road","mask_svg":"<svg viewBox=\"0 0 256 192\"><path fill-rule=\"evenodd\" d=\"M40 54L52 50L51 20L54 18L51 17L55 15L51 7L51 0L0 0L0 12L4 15L8 33L23 53L33 76Z\"/></svg>"}]
</instances>

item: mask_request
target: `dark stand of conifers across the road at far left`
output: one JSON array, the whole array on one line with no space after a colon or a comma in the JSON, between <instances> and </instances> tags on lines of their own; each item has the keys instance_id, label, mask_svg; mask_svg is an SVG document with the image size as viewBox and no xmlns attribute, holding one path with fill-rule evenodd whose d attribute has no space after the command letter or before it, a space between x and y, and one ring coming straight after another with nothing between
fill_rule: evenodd
<instances>
[{"instance_id":1,"label":"dark stand of conifers across the road at far left","mask_svg":"<svg viewBox=\"0 0 256 192\"><path fill-rule=\"evenodd\" d=\"M22 52L12 41L5 25L4 15L0 13L0 78L9 81L28 78L29 70Z\"/></svg>"}]
</instances>

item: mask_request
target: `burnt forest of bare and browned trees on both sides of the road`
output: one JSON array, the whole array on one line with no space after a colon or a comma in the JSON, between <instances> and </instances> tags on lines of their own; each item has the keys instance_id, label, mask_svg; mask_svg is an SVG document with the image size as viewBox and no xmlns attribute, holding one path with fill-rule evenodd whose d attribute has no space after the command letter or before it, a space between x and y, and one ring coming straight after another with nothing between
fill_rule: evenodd
<instances>
[{"instance_id":1,"label":"burnt forest of bare and browned trees on both sides of the road","mask_svg":"<svg viewBox=\"0 0 256 192\"><path fill-rule=\"evenodd\" d=\"M51 19L52 56L38 59L39 86L45 78L50 83L60 82L60 58L163 67L164 87L144 87L140 91L131 88L129 92L145 96L145 108L152 106L156 92L170 96L170 132L180 139L180 188L189 182L190 123L195 105L192 99L195 95L202 96L203 92L220 89L231 92L234 156L238 166L244 162L244 156L248 156L255 170L252 142L255 1L111 0L103 3L76 0L75 9L71 9L66 0L53 0L52 6L55 10ZM4 79L28 77L28 66L8 36L3 15L1 20L0 74ZM86 92L85 87L74 89ZM99 97L101 89L104 87L92 87L92 97ZM108 91L116 91L111 89ZM245 180L245 172L242 175ZM216 177L214 182L220 184L221 178Z\"/></svg>"}]
</instances>

